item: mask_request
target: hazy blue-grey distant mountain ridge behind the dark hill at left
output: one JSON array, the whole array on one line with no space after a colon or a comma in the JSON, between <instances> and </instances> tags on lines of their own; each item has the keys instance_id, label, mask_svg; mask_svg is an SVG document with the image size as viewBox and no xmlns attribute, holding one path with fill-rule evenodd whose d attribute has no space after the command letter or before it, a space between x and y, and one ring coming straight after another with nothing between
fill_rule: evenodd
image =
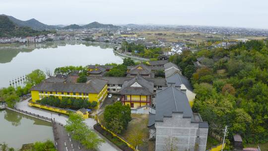
<instances>
[{"instance_id":1,"label":"hazy blue-grey distant mountain ridge behind the dark hill at left","mask_svg":"<svg viewBox=\"0 0 268 151\"><path fill-rule=\"evenodd\" d=\"M48 30L48 29L56 29L57 26L51 26L51 25L46 25L34 18L23 21L19 20L13 16L8 16L5 14L1 14L0 16L7 16L12 22L14 22L17 26L19 27L31 27L35 30Z\"/></svg>"}]
</instances>

